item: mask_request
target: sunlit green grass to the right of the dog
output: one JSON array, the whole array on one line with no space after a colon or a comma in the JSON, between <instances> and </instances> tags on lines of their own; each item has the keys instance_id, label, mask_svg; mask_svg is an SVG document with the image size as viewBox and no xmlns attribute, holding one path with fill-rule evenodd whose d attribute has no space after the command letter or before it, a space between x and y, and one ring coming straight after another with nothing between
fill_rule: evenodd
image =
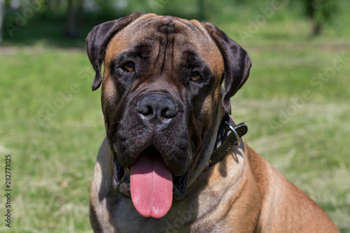
<instances>
[{"instance_id":1,"label":"sunlit green grass to the right of the dog","mask_svg":"<svg viewBox=\"0 0 350 233\"><path fill-rule=\"evenodd\" d=\"M223 25L253 63L232 98L232 113L246 121L250 146L314 199L341 232L350 232L349 38L310 38L308 26L269 24L241 43L235 34L246 25ZM344 66L328 73L343 52ZM318 73L328 77L315 85Z\"/></svg>"}]
</instances>

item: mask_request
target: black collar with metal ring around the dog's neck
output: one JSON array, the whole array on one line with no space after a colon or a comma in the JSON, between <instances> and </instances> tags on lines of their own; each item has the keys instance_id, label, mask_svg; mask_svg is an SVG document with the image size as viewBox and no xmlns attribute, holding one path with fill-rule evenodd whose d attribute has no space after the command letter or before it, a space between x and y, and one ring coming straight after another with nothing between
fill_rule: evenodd
<instances>
[{"instance_id":1,"label":"black collar with metal ring around the dog's neck","mask_svg":"<svg viewBox=\"0 0 350 233\"><path fill-rule=\"evenodd\" d=\"M241 136L244 136L246 132L248 132L248 127L244 125L244 122L232 126L230 125L230 115L225 113L218 129L218 136L216 137L214 150L211 153L207 168L223 160L233 145L239 146L241 144Z\"/></svg>"}]
</instances>

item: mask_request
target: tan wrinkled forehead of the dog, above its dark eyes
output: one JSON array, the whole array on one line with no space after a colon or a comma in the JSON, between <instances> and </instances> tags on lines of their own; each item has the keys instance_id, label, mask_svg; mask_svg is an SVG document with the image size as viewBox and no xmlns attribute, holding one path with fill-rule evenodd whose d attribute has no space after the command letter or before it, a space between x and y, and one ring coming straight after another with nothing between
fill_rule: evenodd
<instances>
[{"instance_id":1,"label":"tan wrinkled forehead of the dog, above its dark eyes","mask_svg":"<svg viewBox=\"0 0 350 233\"><path fill-rule=\"evenodd\" d=\"M105 64L109 64L123 52L137 45L151 43L164 45L167 40L173 44L173 56L179 52L195 52L207 61L215 73L223 73L223 57L207 29L197 20L183 20L177 17L154 14L143 15L113 36L106 48Z\"/></svg>"}]
</instances>

